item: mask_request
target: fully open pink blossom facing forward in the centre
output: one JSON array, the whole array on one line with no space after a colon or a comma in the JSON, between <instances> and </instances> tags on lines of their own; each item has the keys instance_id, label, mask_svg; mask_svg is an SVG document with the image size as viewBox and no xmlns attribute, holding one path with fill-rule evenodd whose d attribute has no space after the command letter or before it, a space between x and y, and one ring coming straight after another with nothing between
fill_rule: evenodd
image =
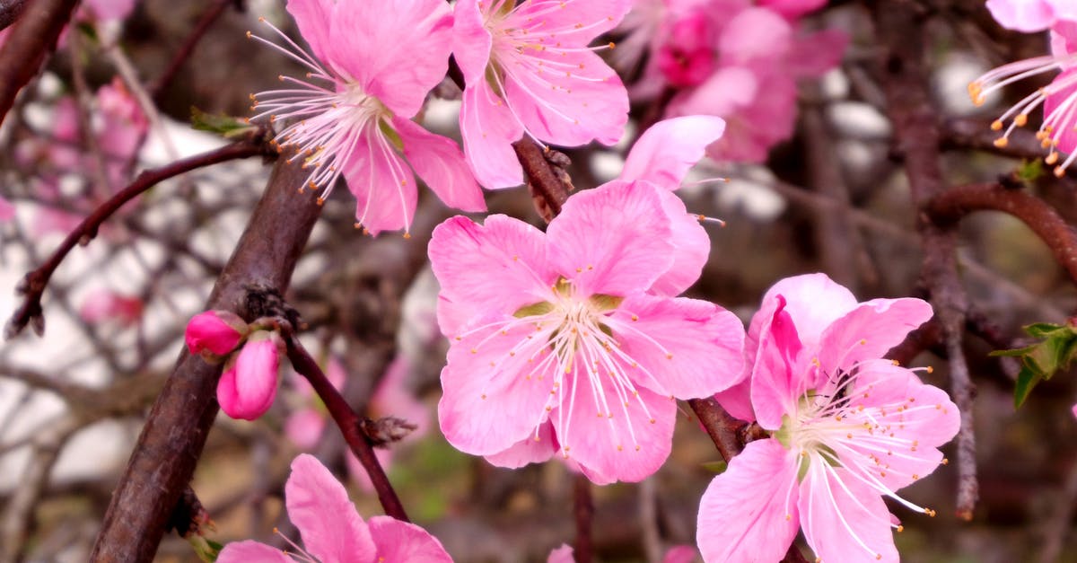
<instances>
[{"instance_id":1,"label":"fully open pink blossom facing forward in the centre","mask_svg":"<svg viewBox=\"0 0 1077 563\"><path fill-rule=\"evenodd\" d=\"M434 230L450 443L505 467L560 451L596 483L639 481L669 454L674 399L733 383L737 317L651 291L677 266L663 195L645 180L584 191L545 234L501 215Z\"/></svg>"}]
</instances>

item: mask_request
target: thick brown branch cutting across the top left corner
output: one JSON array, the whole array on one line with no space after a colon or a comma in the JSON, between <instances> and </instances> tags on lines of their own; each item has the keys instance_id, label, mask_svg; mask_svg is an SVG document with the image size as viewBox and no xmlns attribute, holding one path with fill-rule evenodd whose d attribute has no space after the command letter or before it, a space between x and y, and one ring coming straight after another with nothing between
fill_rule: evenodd
<instances>
[{"instance_id":1,"label":"thick brown branch cutting across the top left corner","mask_svg":"<svg viewBox=\"0 0 1077 563\"><path fill-rule=\"evenodd\" d=\"M15 104L15 96L38 73L45 52L56 46L79 0L34 0L12 26L0 46L0 121Z\"/></svg>"}]
</instances>

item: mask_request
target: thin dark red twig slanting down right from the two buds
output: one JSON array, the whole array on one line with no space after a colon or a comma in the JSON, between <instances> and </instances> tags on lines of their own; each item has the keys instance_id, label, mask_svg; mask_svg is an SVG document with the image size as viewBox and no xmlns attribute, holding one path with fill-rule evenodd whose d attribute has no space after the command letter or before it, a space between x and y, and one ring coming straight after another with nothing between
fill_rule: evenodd
<instances>
[{"instance_id":1,"label":"thin dark red twig slanting down right from the two buds","mask_svg":"<svg viewBox=\"0 0 1077 563\"><path fill-rule=\"evenodd\" d=\"M288 344L288 359L292 362L292 368L310 382L310 386L314 388L314 393L325 403L330 415L333 416L333 422L336 423L337 427L340 428L340 432L344 434L344 439L348 442L351 453L355 454L359 463L366 469L366 475L370 477L370 483L374 484L374 490L378 492L378 500L381 502L381 508L386 510L387 514L396 520L408 522L404 505L401 504L401 499L396 496L396 491L393 491L393 485L389 482L389 478L386 477L386 471L374 455L374 448L370 444L369 438L363 434L360 427L363 420L355 414L355 411L348 404L348 401L340 396L340 392L330 383L330 380L322 372L318 362L314 358L310 357L310 354L303 347L298 339L295 335L289 335L285 338L285 342Z\"/></svg>"}]
</instances>

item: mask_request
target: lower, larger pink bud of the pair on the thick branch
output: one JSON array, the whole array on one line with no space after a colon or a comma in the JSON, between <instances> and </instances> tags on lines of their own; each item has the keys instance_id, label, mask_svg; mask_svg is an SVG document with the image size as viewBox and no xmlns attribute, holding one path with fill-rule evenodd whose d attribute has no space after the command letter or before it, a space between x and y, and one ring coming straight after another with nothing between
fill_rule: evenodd
<instances>
[{"instance_id":1,"label":"lower, larger pink bud of the pair on the thick branch","mask_svg":"<svg viewBox=\"0 0 1077 563\"><path fill-rule=\"evenodd\" d=\"M269 410L277 396L282 347L276 332L260 330L251 334L216 385L216 401L225 414L253 421Z\"/></svg>"}]
</instances>

